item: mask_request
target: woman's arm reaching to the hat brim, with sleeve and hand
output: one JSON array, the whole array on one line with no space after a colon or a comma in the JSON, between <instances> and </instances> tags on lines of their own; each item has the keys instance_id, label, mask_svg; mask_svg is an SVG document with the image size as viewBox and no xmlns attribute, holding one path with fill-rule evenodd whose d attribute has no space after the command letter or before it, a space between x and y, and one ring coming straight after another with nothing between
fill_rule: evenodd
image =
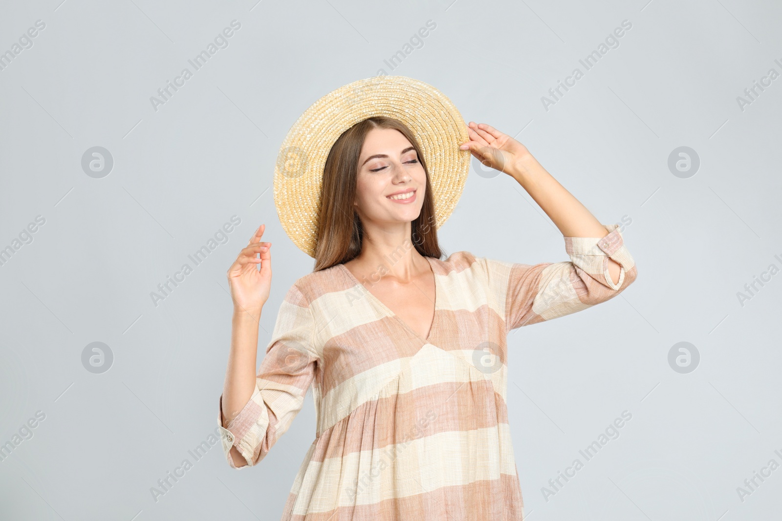
<instances>
[{"instance_id":1,"label":"woman's arm reaching to the hat brim, with sleeve and hand","mask_svg":"<svg viewBox=\"0 0 782 521\"><path fill-rule=\"evenodd\" d=\"M518 181L559 228L570 256L536 265L481 259L508 330L605 302L636 280L618 225L601 224L513 137L472 121L468 134L461 148Z\"/></svg>"}]
</instances>

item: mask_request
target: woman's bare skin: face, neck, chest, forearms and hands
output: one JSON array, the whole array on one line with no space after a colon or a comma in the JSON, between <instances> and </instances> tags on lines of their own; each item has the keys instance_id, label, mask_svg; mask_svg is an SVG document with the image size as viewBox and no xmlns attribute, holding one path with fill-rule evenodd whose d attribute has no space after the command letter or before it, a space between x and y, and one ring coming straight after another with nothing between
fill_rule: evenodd
<instances>
[{"instance_id":1,"label":"woman's bare skin: face, neck, chest, forearms and hands","mask_svg":"<svg viewBox=\"0 0 782 521\"><path fill-rule=\"evenodd\" d=\"M605 237L601 223L536 161L513 137L485 123L468 123L470 141L460 146L496 170L518 181L554 221L564 237ZM410 141L397 130L371 130L359 157L357 197L354 205L364 226L361 254L345 262L358 280L418 336L426 338L434 317L434 273L423 255L411 247L412 221L418 217L426 189L426 177ZM407 203L393 202L389 194L414 190ZM258 321L271 287L270 242L260 241L261 224L246 248L228 269L234 302L231 352L223 387L223 426L242 410L256 386ZM260 255L260 258L256 258ZM389 265L388 259L396 259ZM260 263L260 270L256 264ZM378 266L384 271L378 273ZM619 281L620 266L608 259L608 273ZM231 448L236 466L246 465Z\"/></svg>"}]
</instances>

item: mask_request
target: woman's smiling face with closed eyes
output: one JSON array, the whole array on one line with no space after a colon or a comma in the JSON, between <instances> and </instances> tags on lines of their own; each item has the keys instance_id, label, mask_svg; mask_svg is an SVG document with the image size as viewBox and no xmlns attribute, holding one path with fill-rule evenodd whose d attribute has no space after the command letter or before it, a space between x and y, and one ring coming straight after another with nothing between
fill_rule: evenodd
<instances>
[{"instance_id":1,"label":"woman's smiling face with closed eyes","mask_svg":"<svg viewBox=\"0 0 782 521\"><path fill-rule=\"evenodd\" d=\"M358 159L355 204L362 222L413 221L421 213L425 190L424 167L407 137L389 128L370 130Z\"/></svg>"}]
</instances>

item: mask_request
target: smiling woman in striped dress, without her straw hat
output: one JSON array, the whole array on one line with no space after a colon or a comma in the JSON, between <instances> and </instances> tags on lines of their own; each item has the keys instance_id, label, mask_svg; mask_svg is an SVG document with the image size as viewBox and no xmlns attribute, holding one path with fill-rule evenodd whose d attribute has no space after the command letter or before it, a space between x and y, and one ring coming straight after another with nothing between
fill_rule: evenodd
<instances>
[{"instance_id":1,"label":"smiling woman in striped dress, without her straw hat","mask_svg":"<svg viewBox=\"0 0 782 521\"><path fill-rule=\"evenodd\" d=\"M508 332L605 302L637 269L617 225L599 223L524 145L483 123L467 134L454 148L518 181L563 234L569 262L441 260L429 158L404 123L373 116L328 154L315 269L285 295L257 374L265 225L228 270L218 421L231 467L260 462L313 389L317 433L282 519L522 519Z\"/></svg>"}]
</instances>

